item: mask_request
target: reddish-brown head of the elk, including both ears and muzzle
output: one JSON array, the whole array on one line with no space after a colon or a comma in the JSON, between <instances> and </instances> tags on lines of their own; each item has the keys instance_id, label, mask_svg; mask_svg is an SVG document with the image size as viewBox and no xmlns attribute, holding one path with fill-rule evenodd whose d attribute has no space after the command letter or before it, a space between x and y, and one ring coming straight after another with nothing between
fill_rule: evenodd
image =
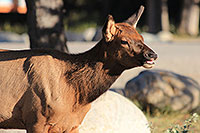
<instances>
[{"instance_id":1,"label":"reddish-brown head of the elk, including both ears and muzzle","mask_svg":"<svg viewBox=\"0 0 200 133\"><path fill-rule=\"evenodd\" d=\"M157 54L144 43L143 37L136 31L143 10L144 7L141 6L137 14L123 23L115 23L109 15L102 29L107 56L126 69L137 66L152 68L157 59Z\"/></svg>"}]
</instances>

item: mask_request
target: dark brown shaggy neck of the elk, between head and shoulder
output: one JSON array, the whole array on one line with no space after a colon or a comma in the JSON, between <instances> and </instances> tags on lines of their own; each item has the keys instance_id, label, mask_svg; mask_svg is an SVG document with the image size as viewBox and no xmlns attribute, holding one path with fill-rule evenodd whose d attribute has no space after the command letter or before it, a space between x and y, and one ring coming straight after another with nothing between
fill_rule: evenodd
<instances>
[{"instance_id":1,"label":"dark brown shaggy neck of the elk, between head and shoulder","mask_svg":"<svg viewBox=\"0 0 200 133\"><path fill-rule=\"evenodd\" d=\"M66 72L75 89L78 104L88 104L106 92L124 71L124 68L106 57L106 45L101 40L87 52L73 55L76 61Z\"/></svg>"}]
</instances>

